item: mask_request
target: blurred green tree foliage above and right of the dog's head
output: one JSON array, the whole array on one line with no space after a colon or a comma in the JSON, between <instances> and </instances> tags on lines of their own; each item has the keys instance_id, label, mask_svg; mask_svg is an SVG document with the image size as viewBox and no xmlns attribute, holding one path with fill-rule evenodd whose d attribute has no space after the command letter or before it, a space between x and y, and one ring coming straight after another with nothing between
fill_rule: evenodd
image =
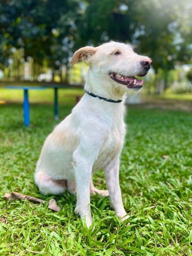
<instances>
[{"instance_id":1,"label":"blurred green tree foliage above and right of the dog's head","mask_svg":"<svg viewBox=\"0 0 192 256\"><path fill-rule=\"evenodd\" d=\"M189 0L90 0L87 4L80 23L83 44L96 46L108 40L133 43L138 53L152 58L156 73L163 71L164 89L168 71L178 61L191 59ZM184 39L179 41L178 37Z\"/></svg>"}]
</instances>

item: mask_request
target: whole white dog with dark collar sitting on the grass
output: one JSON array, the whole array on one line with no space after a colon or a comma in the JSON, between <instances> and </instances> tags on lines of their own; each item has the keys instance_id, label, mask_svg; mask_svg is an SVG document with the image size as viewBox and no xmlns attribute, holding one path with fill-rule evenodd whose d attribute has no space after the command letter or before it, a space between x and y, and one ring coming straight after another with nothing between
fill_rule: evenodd
<instances>
[{"instance_id":1,"label":"whole white dog with dark collar sitting on the grass","mask_svg":"<svg viewBox=\"0 0 192 256\"><path fill-rule=\"evenodd\" d=\"M125 136L124 100L139 91L152 60L136 54L126 44L109 42L86 46L74 53L71 64L89 65L85 94L47 137L37 163L35 182L43 194L77 192L76 212L92 223L90 192L110 196L111 206L126 215L119 186L119 158ZM98 190L92 174L103 169L108 190Z\"/></svg>"}]
</instances>

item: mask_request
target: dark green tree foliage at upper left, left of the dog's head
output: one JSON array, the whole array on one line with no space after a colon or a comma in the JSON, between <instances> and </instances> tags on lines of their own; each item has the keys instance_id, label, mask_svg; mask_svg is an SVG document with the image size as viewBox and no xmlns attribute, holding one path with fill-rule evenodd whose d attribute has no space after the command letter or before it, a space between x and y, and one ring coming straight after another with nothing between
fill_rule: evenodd
<instances>
[{"instance_id":1,"label":"dark green tree foliage at upper left, left of the dog's head","mask_svg":"<svg viewBox=\"0 0 192 256\"><path fill-rule=\"evenodd\" d=\"M44 59L52 68L68 63L74 45L76 0L3 0L0 3L0 25L3 25L2 52L12 47L24 48L25 58L31 56L42 65Z\"/></svg>"}]
</instances>

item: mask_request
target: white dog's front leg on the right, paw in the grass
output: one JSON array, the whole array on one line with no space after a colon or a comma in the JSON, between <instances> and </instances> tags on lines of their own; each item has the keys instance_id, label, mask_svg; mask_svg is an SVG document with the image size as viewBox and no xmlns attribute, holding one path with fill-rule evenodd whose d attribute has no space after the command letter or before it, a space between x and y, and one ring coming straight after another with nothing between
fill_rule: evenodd
<instances>
[{"instance_id":1,"label":"white dog's front leg on the right, paw in the grass","mask_svg":"<svg viewBox=\"0 0 192 256\"><path fill-rule=\"evenodd\" d=\"M129 215L126 215L126 211L124 209L119 185L119 158L112 160L106 166L106 168L104 168L104 173L111 200L111 206L116 212L117 216L121 218L121 220L125 220L129 218Z\"/></svg>"}]
</instances>

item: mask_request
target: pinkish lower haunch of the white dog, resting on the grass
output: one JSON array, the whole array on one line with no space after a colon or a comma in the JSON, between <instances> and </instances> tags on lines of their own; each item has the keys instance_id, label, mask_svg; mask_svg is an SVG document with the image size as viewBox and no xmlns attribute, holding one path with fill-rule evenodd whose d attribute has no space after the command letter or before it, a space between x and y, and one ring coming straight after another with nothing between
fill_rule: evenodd
<instances>
[{"instance_id":1,"label":"pinkish lower haunch of the white dog, resting on the grass","mask_svg":"<svg viewBox=\"0 0 192 256\"><path fill-rule=\"evenodd\" d=\"M66 180L54 180L43 172L35 173L35 183L37 184L40 192L46 194L63 194L67 188Z\"/></svg>"}]
</instances>

